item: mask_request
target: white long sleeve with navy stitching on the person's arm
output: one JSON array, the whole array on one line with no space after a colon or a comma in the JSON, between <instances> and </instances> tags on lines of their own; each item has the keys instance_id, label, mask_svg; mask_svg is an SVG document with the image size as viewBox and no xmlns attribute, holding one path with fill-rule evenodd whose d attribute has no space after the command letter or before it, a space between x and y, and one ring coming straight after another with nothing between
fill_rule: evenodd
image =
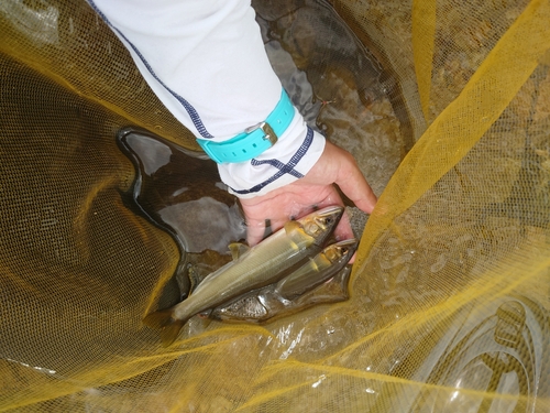
<instances>
[{"instance_id":1,"label":"white long sleeve with navy stitching on the person's arm","mask_svg":"<svg viewBox=\"0 0 550 413\"><path fill-rule=\"evenodd\" d=\"M88 0L130 51L166 108L197 138L224 141L264 121L280 98L250 0ZM241 198L304 176L324 138L295 117L246 162L218 164Z\"/></svg>"}]
</instances>

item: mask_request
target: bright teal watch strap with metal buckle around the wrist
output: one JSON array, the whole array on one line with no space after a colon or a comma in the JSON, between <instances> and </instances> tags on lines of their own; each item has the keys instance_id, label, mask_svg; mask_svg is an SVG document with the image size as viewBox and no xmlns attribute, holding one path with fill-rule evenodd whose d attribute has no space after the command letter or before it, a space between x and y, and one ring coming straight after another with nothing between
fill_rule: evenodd
<instances>
[{"instance_id":1,"label":"bright teal watch strap with metal buckle around the wrist","mask_svg":"<svg viewBox=\"0 0 550 413\"><path fill-rule=\"evenodd\" d=\"M217 163L250 161L273 146L294 119L294 106L285 90L280 100L264 122L248 128L223 142L197 139L202 150Z\"/></svg>"}]
</instances>

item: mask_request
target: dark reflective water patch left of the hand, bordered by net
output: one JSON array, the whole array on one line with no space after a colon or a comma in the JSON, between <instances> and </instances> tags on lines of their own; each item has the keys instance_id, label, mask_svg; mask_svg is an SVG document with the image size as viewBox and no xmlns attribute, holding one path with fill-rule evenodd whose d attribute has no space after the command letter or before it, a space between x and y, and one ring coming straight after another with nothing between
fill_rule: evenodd
<instances>
[{"instance_id":1,"label":"dark reflective water patch left of the hand, bordered by net","mask_svg":"<svg viewBox=\"0 0 550 413\"><path fill-rule=\"evenodd\" d=\"M124 196L127 206L169 232L178 244L180 260L160 302L174 305L198 282L193 275L197 265L211 271L228 261L228 244L245 237L242 214L204 153L136 128L120 130L118 143L136 172ZM167 298L177 289L177 300Z\"/></svg>"}]
</instances>

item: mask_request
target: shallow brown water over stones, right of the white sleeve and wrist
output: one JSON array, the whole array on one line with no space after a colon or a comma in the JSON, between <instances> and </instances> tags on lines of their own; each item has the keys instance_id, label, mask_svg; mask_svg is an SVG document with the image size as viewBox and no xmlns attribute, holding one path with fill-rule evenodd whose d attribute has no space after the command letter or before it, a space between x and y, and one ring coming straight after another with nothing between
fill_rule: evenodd
<instances>
[{"instance_id":1,"label":"shallow brown water over stones, right of the white sleeve and wrist","mask_svg":"<svg viewBox=\"0 0 550 413\"><path fill-rule=\"evenodd\" d=\"M308 124L351 152L376 195L408 150L396 80L322 1L255 1L267 55ZM394 85L394 86L389 86Z\"/></svg>"}]
</instances>

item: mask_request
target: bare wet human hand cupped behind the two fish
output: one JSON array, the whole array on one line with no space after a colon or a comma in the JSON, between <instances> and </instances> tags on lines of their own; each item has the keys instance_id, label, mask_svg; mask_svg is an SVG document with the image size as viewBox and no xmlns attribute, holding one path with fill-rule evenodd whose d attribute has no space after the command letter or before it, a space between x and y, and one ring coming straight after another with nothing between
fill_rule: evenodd
<instances>
[{"instance_id":1,"label":"bare wet human hand cupped behind the two fish","mask_svg":"<svg viewBox=\"0 0 550 413\"><path fill-rule=\"evenodd\" d=\"M250 246L258 243L265 235L266 219L271 231L276 231L290 218L300 218L316 208L342 205L333 184L348 196L358 208L371 214L376 196L359 170L354 157L343 149L326 142L319 161L306 176L292 184L254 198L240 199L246 220L246 240ZM349 217L344 214L334 230L337 239L353 238Z\"/></svg>"}]
</instances>

